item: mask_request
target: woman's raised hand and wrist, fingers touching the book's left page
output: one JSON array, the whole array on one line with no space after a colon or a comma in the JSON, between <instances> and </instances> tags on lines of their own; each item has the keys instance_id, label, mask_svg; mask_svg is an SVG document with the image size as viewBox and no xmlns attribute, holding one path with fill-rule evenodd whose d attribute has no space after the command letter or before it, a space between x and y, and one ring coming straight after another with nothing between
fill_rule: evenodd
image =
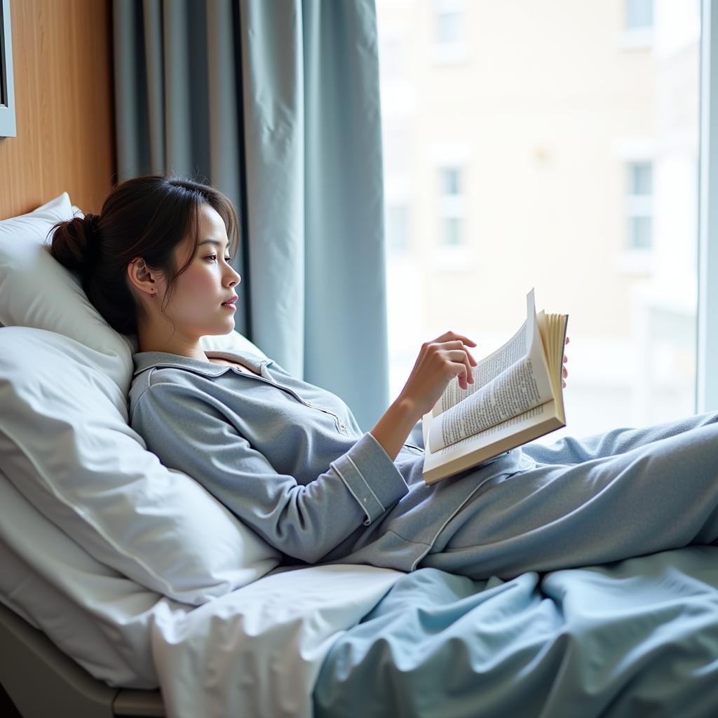
<instances>
[{"instance_id":1,"label":"woman's raised hand and wrist, fingers touching the book's left page","mask_svg":"<svg viewBox=\"0 0 718 718\"><path fill-rule=\"evenodd\" d=\"M478 362L466 345L475 347L476 342L455 332L446 332L421 345L419 357L400 394L400 398L411 401L419 416L433 409L454 376L459 377L462 389L474 383L472 367Z\"/></svg>"}]
</instances>

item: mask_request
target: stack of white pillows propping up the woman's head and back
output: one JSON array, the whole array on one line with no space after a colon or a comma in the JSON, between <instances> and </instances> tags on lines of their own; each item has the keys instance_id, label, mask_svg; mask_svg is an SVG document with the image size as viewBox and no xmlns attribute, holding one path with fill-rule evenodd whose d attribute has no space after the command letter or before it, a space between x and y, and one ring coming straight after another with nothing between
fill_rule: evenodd
<instances>
[{"instance_id":1,"label":"stack of white pillows propping up the woman's head and back","mask_svg":"<svg viewBox=\"0 0 718 718\"><path fill-rule=\"evenodd\" d=\"M0 221L1 469L38 521L42 514L78 551L200 605L271 571L279 552L191 477L164 467L127 423L134 342L47 251L52 225L78 212L65 192ZM265 356L238 332L206 338L205 348Z\"/></svg>"}]
</instances>

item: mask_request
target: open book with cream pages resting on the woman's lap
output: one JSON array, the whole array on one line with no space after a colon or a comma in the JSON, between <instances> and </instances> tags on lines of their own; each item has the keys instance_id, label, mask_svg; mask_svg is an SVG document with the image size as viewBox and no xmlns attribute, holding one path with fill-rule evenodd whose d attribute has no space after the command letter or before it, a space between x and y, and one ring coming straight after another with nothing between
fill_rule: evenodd
<instances>
[{"instance_id":1,"label":"open book with cream pages resting on the woman's lap","mask_svg":"<svg viewBox=\"0 0 718 718\"><path fill-rule=\"evenodd\" d=\"M432 484L566 426L561 373L568 314L536 314L503 347L472 368L462 389L454 377L421 420L424 482Z\"/></svg>"}]
</instances>

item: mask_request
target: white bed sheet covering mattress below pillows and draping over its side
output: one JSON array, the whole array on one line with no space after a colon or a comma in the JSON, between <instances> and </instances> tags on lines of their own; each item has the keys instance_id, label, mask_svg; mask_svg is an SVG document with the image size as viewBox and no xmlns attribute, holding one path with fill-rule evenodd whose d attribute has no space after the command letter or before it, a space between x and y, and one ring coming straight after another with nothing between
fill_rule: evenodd
<instances>
[{"instance_id":1,"label":"white bed sheet covering mattress below pillows and draping over its side","mask_svg":"<svg viewBox=\"0 0 718 718\"><path fill-rule=\"evenodd\" d=\"M278 567L202 606L103 567L0 472L0 600L111 686L162 689L170 718L312 715L337 638L404 574Z\"/></svg>"}]
</instances>

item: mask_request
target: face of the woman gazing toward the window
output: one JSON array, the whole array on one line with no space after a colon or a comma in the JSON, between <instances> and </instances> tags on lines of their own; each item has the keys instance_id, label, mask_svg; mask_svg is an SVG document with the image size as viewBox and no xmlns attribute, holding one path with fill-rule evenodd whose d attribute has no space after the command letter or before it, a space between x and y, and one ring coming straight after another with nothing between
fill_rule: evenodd
<instances>
[{"instance_id":1,"label":"face of the woman gazing toward the window","mask_svg":"<svg viewBox=\"0 0 718 718\"><path fill-rule=\"evenodd\" d=\"M206 335L227 334L234 329L233 305L224 304L236 297L241 277L229 264L227 230L210 205L200 208L200 237L197 254L190 266L174 283L174 292L164 309L165 317L174 322L177 333L188 342ZM182 267L190 256L192 245L185 240L175 251L177 266ZM161 306L166 286L158 284L157 306Z\"/></svg>"}]
</instances>

